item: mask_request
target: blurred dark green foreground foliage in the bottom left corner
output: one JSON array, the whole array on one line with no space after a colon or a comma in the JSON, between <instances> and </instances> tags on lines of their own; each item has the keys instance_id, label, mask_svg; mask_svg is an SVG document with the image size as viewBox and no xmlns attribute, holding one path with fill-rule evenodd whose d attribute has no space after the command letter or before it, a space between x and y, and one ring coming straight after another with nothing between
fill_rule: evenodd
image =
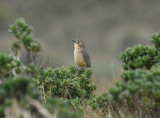
<instances>
[{"instance_id":1,"label":"blurred dark green foreground foliage in the bottom left corner","mask_svg":"<svg viewBox=\"0 0 160 118\"><path fill-rule=\"evenodd\" d=\"M68 104L60 99L50 98L45 105L41 105L41 103L43 103L41 93L35 87L32 78L12 78L0 86L0 117L4 117L6 111L12 111L13 106L14 113L7 112L13 117L23 116L24 111L27 111L32 117L39 118L46 117L46 114L63 118L79 118L81 115L70 111Z\"/></svg>"}]
</instances>

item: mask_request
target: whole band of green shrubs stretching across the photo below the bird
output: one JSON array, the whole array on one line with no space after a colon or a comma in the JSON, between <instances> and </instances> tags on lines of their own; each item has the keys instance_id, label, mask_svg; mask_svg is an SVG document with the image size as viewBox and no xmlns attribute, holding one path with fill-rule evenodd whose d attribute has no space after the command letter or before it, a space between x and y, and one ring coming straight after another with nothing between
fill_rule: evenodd
<instances>
[{"instance_id":1,"label":"whole band of green shrubs stretching across the photo below the bird","mask_svg":"<svg viewBox=\"0 0 160 118\"><path fill-rule=\"evenodd\" d=\"M160 117L160 33L152 34L153 46L121 53L122 80L96 96L91 68L37 66L42 47L32 30L18 19L9 30L17 38L12 53L0 52L0 117L79 118L88 109L101 117Z\"/></svg>"}]
</instances>

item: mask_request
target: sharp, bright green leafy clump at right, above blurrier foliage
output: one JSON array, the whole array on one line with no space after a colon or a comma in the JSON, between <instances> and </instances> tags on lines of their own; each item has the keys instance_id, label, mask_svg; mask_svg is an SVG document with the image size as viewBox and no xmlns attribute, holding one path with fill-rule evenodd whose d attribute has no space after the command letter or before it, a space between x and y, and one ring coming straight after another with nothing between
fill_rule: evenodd
<instances>
[{"instance_id":1,"label":"sharp, bright green leafy clump at right, above blurrier foliage","mask_svg":"<svg viewBox=\"0 0 160 118\"><path fill-rule=\"evenodd\" d=\"M160 52L153 46L137 45L133 48L128 48L124 53L121 53L123 69L150 69L152 65L160 61Z\"/></svg>"}]
</instances>

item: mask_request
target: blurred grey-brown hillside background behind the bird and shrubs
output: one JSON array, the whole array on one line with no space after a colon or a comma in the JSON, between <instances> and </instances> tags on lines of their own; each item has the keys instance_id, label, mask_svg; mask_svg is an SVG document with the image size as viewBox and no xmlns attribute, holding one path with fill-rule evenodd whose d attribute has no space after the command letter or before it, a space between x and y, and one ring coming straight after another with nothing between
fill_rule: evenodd
<instances>
[{"instance_id":1,"label":"blurred grey-brown hillside background behind the bird and shrubs","mask_svg":"<svg viewBox=\"0 0 160 118\"><path fill-rule=\"evenodd\" d=\"M0 51L15 38L9 24L23 17L34 28L48 66L74 64L73 39L85 42L97 83L121 72L120 53L136 44L151 45L160 29L159 0L0 0ZM106 83L104 83L106 85Z\"/></svg>"}]
</instances>

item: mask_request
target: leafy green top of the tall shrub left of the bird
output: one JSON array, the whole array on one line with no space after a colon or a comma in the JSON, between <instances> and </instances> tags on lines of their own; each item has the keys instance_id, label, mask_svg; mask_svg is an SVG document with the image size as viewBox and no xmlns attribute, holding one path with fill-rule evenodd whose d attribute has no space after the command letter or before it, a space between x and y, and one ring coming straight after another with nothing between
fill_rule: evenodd
<instances>
[{"instance_id":1,"label":"leafy green top of the tall shrub left of the bird","mask_svg":"<svg viewBox=\"0 0 160 118\"><path fill-rule=\"evenodd\" d=\"M33 28L28 25L23 18L16 20L14 24L9 26L9 32L12 33L18 41L13 43L12 50L19 50L20 43L23 44L27 51L39 53L41 51L41 45L33 38Z\"/></svg>"}]
</instances>

